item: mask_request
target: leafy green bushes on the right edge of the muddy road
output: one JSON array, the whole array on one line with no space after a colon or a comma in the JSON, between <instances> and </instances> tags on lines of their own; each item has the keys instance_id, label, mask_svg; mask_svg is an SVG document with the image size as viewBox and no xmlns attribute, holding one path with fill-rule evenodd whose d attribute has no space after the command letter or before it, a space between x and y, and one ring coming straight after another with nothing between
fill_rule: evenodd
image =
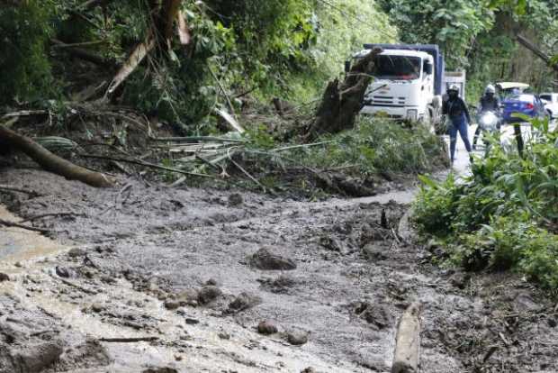
<instances>
[{"instance_id":1,"label":"leafy green bushes on the right edge of the muddy road","mask_svg":"<svg viewBox=\"0 0 558 373\"><path fill-rule=\"evenodd\" d=\"M558 287L558 132L534 120L524 157L492 144L473 175L456 183L427 179L414 205L420 232L450 243L465 268L517 268ZM548 261L545 261L548 260Z\"/></svg>"}]
</instances>

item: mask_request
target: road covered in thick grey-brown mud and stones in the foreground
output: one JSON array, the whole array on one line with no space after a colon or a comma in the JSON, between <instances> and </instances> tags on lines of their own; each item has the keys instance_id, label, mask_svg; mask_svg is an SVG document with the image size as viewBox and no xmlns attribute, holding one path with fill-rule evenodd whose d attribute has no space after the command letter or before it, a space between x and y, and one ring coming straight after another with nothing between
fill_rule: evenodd
<instances>
[{"instance_id":1,"label":"road covered in thick grey-brown mud and stones in the foreground","mask_svg":"<svg viewBox=\"0 0 558 373\"><path fill-rule=\"evenodd\" d=\"M2 373L388 372L415 300L422 372L558 372L556 305L430 264L440 248L401 222L409 191L304 203L34 169L0 184L40 194L2 192L0 219L70 213L33 221L54 241L0 228Z\"/></svg>"}]
</instances>

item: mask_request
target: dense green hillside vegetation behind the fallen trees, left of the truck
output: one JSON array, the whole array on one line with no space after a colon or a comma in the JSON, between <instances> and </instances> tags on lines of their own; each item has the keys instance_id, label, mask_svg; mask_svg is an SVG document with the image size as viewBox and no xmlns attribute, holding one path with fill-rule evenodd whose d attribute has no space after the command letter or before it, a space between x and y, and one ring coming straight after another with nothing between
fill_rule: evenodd
<instances>
[{"instance_id":1,"label":"dense green hillside vegetation behind the fallen trees, left of the truck","mask_svg":"<svg viewBox=\"0 0 558 373\"><path fill-rule=\"evenodd\" d=\"M84 86L110 79L111 66L145 39L151 23L148 0L81 3L29 0L0 9L0 105L71 99ZM188 131L211 132L211 109L226 104L216 79L231 96L250 91L266 102L272 96L303 102L320 94L362 42L397 39L396 29L372 1L181 4L190 44L160 46L116 99ZM81 61L54 40L79 44L107 63L80 69ZM238 109L241 102L232 104Z\"/></svg>"}]
</instances>

